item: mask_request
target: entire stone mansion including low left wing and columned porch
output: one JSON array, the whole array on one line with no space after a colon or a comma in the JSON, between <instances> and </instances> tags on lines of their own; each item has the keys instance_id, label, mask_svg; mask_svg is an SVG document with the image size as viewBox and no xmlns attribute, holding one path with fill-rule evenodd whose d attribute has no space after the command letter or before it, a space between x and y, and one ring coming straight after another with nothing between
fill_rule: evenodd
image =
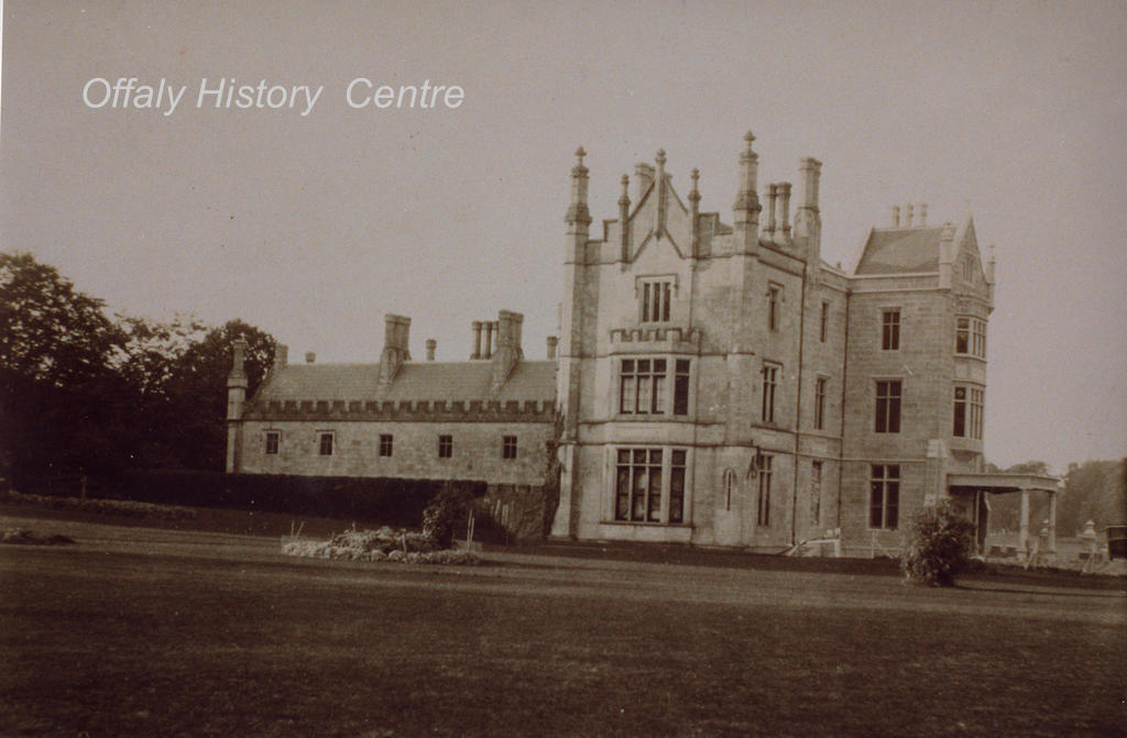
<instances>
[{"instance_id":1,"label":"entire stone mansion including low left wing and columned porch","mask_svg":"<svg viewBox=\"0 0 1127 738\"><path fill-rule=\"evenodd\" d=\"M432 341L411 361L410 320L389 315L379 363L289 364L279 346L248 399L237 345L228 471L483 480L547 505L553 536L779 551L832 535L852 555L897 550L939 498L979 544L991 494L1055 501L1055 479L984 470L994 264L973 220L894 207L850 270L831 266L822 163L801 160L792 202L789 183L758 186L753 141L729 222L700 210L696 170L682 197L658 151L594 234L576 152L545 361L524 357L517 313L474 321L453 363Z\"/></svg>"}]
</instances>

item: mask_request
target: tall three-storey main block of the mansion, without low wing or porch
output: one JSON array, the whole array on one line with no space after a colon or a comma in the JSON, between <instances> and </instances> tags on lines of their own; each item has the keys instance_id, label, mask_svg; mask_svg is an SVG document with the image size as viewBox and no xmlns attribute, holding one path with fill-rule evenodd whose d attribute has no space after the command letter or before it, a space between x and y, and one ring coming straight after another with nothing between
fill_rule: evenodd
<instances>
[{"instance_id":1,"label":"tall three-storey main block of the mansion, without low wing or porch","mask_svg":"<svg viewBox=\"0 0 1127 738\"><path fill-rule=\"evenodd\" d=\"M971 221L929 228L920 206L873 229L851 272L833 267L820 162L801 160L792 213L789 183L761 198L753 141L730 225L700 212L696 170L684 199L674 190L659 151L632 187L622 177L619 217L594 237L577 152L556 535L758 550L840 535L846 553L891 551L947 473L982 471L980 394L974 432L952 425L955 389L985 389L985 355L956 352L958 320L984 334L992 308ZM878 430L878 410L895 427Z\"/></svg>"}]
</instances>

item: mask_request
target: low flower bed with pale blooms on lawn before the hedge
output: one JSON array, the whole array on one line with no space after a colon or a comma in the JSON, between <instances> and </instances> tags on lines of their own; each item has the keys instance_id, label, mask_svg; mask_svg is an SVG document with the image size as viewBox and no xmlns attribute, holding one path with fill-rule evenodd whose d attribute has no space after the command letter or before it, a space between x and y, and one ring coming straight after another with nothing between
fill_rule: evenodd
<instances>
[{"instance_id":1,"label":"low flower bed with pale blooms on lawn before the hedge","mask_svg":"<svg viewBox=\"0 0 1127 738\"><path fill-rule=\"evenodd\" d=\"M291 536L282 553L316 559L345 561L398 561L402 563L477 564L481 559L470 551L440 549L435 540L418 531L383 526L375 531L355 527L337 533L328 541Z\"/></svg>"}]
</instances>

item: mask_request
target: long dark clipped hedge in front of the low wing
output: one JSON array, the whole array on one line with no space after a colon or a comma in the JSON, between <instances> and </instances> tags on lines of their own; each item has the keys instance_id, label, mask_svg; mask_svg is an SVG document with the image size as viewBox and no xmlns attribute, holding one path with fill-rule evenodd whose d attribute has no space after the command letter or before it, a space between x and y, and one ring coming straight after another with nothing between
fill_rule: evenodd
<instances>
[{"instance_id":1,"label":"long dark clipped hedge in front of the low wing","mask_svg":"<svg viewBox=\"0 0 1127 738\"><path fill-rule=\"evenodd\" d=\"M25 482L29 489L19 491L74 497L80 484L78 478L54 478ZM487 489L486 482L469 480L128 471L89 480L87 496L418 527L424 508L443 486L473 497L485 496Z\"/></svg>"}]
</instances>

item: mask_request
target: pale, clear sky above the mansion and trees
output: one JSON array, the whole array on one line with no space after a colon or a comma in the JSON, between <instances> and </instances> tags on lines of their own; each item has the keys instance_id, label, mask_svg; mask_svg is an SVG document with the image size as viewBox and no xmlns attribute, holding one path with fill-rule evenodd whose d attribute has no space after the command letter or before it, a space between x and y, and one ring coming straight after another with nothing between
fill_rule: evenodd
<instances>
[{"instance_id":1,"label":"pale, clear sky above the mansion and trees","mask_svg":"<svg viewBox=\"0 0 1127 738\"><path fill-rule=\"evenodd\" d=\"M996 247L988 460L1127 452L1127 2L8 0L2 32L0 249L112 311L374 362L384 313L461 361L507 309L542 358L576 148L594 233L659 148L730 222L752 130L761 186L824 162L831 264L907 203ZM99 105L122 78L185 91ZM463 95L353 107L360 78Z\"/></svg>"}]
</instances>

